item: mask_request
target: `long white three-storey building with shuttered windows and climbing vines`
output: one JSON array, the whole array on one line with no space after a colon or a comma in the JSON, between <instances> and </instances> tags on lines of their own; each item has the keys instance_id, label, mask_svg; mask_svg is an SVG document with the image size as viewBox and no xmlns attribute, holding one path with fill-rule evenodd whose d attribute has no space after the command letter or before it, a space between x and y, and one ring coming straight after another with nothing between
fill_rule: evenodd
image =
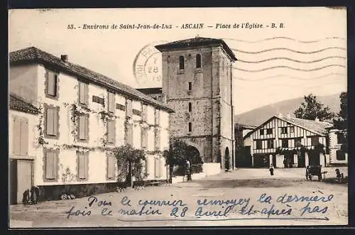
<instances>
[{"instance_id":1,"label":"long white three-storey building with shuttered windows and climbing vines","mask_svg":"<svg viewBox=\"0 0 355 235\"><path fill-rule=\"evenodd\" d=\"M116 188L118 169L111 150L123 145L146 151L145 180L167 180L162 152L169 148L172 109L68 62L67 55L58 58L26 48L9 58L10 92L38 109L28 117L28 152L19 153L31 158L33 177L28 184L38 186L41 197L58 199L69 186L87 194ZM9 115L10 120L21 116ZM15 123L10 122L11 159L22 148ZM28 170L22 174L28 175Z\"/></svg>"}]
</instances>

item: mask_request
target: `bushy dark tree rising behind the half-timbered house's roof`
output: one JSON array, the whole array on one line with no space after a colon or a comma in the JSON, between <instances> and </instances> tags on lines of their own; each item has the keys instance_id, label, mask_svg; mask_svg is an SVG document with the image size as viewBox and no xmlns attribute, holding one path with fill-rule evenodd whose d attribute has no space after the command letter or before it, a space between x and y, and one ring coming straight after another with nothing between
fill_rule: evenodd
<instances>
[{"instance_id":1,"label":"bushy dark tree rising behind the half-timbered house's roof","mask_svg":"<svg viewBox=\"0 0 355 235\"><path fill-rule=\"evenodd\" d=\"M330 111L329 106L324 106L324 104L318 102L315 95L309 94L304 99L305 101L293 113L297 118L308 120L318 118L320 121L332 120L334 118L335 114Z\"/></svg>"}]
</instances>

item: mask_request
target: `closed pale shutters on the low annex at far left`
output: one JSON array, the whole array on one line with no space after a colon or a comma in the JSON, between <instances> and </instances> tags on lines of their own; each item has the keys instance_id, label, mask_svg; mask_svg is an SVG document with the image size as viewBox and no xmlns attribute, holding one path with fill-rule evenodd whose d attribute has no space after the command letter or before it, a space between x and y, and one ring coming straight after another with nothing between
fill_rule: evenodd
<instances>
[{"instance_id":1,"label":"closed pale shutters on the low annex at far left","mask_svg":"<svg viewBox=\"0 0 355 235\"><path fill-rule=\"evenodd\" d=\"M28 154L28 120L26 118L19 116L13 118L12 153Z\"/></svg>"}]
</instances>

